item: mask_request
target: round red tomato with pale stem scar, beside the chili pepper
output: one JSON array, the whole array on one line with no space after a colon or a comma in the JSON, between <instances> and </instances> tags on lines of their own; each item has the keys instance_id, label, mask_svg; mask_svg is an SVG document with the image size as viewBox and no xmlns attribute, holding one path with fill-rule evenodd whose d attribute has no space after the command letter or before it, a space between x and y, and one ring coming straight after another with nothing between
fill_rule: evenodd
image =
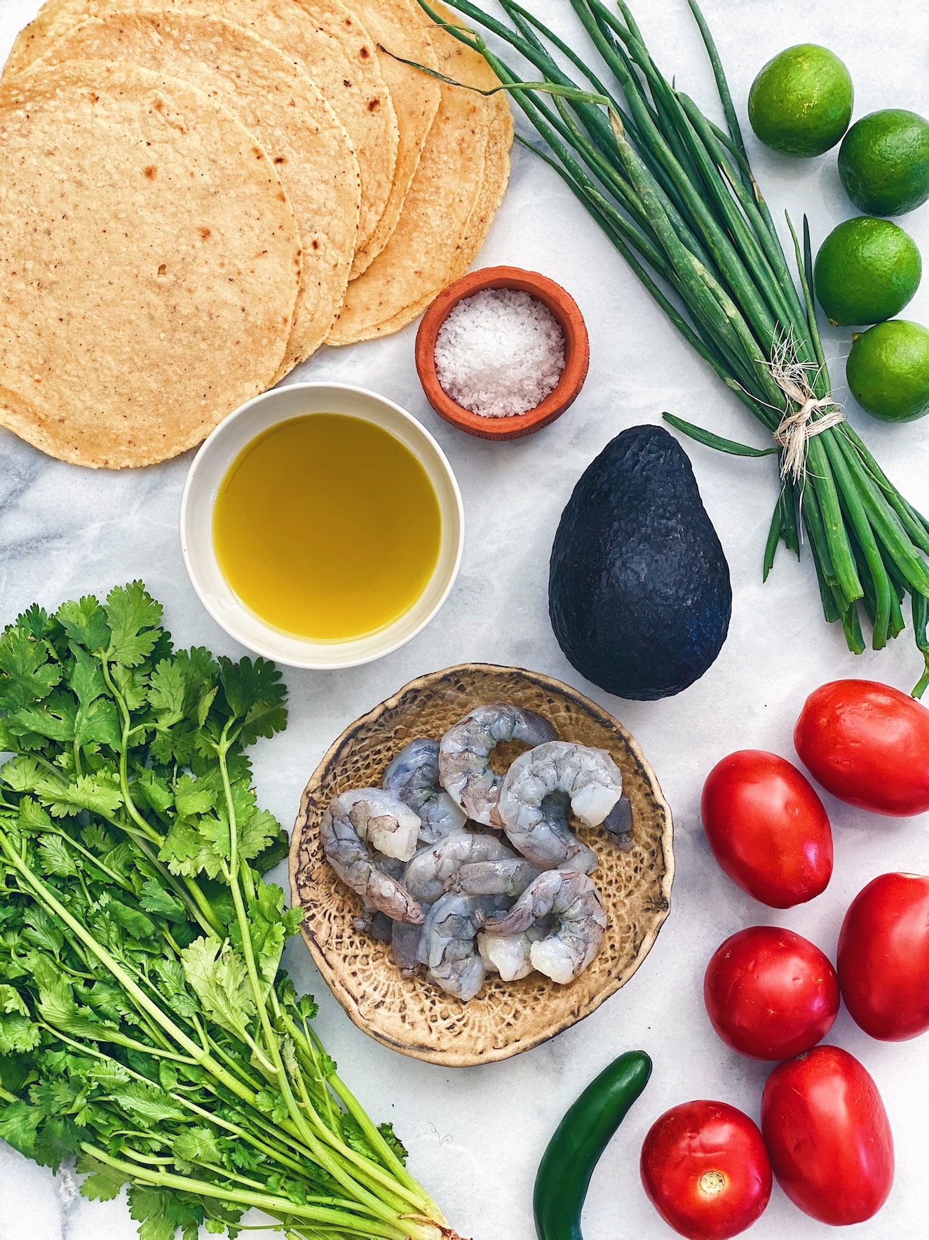
<instances>
[{"instance_id":1,"label":"round red tomato with pale stem scar, beside the chili pepper","mask_svg":"<svg viewBox=\"0 0 929 1240\"><path fill-rule=\"evenodd\" d=\"M689 1240L726 1240L749 1228L770 1197L758 1126L727 1102L683 1102L648 1131L639 1163L649 1200Z\"/></svg>"}]
</instances>

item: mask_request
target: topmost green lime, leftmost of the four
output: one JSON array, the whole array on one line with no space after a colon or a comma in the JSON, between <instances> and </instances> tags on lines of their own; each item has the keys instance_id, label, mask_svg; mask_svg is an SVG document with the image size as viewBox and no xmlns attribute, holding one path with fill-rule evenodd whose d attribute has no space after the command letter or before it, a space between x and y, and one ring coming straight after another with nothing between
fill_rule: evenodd
<instances>
[{"instance_id":1,"label":"topmost green lime, leftmost of the four","mask_svg":"<svg viewBox=\"0 0 929 1240\"><path fill-rule=\"evenodd\" d=\"M748 93L748 119L759 141L785 155L821 155L851 120L848 69L816 43L798 43L768 61Z\"/></svg>"}]
</instances>

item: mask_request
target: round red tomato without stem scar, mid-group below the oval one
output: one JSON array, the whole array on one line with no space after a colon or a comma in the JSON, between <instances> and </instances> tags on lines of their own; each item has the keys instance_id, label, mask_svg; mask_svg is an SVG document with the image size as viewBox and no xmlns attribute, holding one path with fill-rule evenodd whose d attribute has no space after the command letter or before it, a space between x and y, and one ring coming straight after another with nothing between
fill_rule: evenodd
<instances>
[{"instance_id":1,"label":"round red tomato without stem scar, mid-group below the oval one","mask_svg":"<svg viewBox=\"0 0 929 1240\"><path fill-rule=\"evenodd\" d=\"M704 999L727 1047L752 1059L790 1059L832 1028L839 978L809 939L778 926L749 926L716 949Z\"/></svg>"}]
</instances>

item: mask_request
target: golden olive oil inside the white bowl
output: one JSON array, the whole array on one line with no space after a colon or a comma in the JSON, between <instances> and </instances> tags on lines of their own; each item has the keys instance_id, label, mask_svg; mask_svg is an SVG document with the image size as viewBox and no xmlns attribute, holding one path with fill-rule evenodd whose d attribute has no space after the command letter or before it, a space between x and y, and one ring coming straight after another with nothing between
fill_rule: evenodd
<instances>
[{"instance_id":1,"label":"golden olive oil inside the white bowl","mask_svg":"<svg viewBox=\"0 0 929 1240\"><path fill-rule=\"evenodd\" d=\"M248 444L223 479L213 546L266 624L346 641L403 615L438 559L442 518L414 454L372 422L311 413Z\"/></svg>"}]
</instances>

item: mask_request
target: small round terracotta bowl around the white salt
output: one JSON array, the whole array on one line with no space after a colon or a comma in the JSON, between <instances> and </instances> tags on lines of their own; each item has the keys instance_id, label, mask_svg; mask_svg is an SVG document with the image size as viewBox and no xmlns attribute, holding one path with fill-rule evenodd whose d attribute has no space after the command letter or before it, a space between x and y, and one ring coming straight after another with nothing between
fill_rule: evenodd
<instances>
[{"instance_id":1,"label":"small round terracotta bowl around the white salt","mask_svg":"<svg viewBox=\"0 0 929 1240\"><path fill-rule=\"evenodd\" d=\"M482 418L481 414L462 409L438 382L435 358L438 331L453 306L481 289L521 289L531 294L545 303L565 334L565 368L561 378L543 403L528 413L518 413L512 418ZM455 280L426 310L416 332L416 370L429 403L440 418L481 439L521 439L523 435L531 435L547 427L574 402L587 378L590 363L591 345L577 303L560 284L538 272L524 272L520 267L486 267Z\"/></svg>"}]
</instances>

